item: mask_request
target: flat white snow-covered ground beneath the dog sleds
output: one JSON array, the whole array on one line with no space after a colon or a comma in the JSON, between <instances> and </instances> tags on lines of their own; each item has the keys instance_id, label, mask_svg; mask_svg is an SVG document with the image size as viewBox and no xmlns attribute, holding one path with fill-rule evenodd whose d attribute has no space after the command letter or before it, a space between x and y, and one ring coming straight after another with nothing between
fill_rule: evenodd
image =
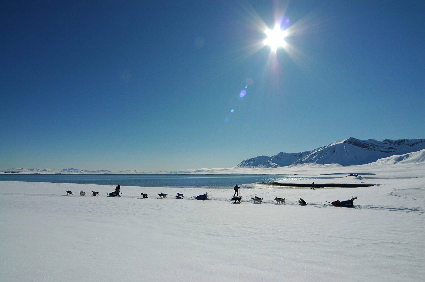
<instances>
[{"instance_id":1,"label":"flat white snow-covered ground beneath the dog sleds","mask_svg":"<svg viewBox=\"0 0 425 282\"><path fill-rule=\"evenodd\" d=\"M111 186L0 181L0 280L423 281L425 175L362 176L326 182L383 185L258 186L241 204L227 189L121 187L110 198ZM212 201L190 198L205 192ZM355 209L322 204L352 196Z\"/></svg>"}]
</instances>

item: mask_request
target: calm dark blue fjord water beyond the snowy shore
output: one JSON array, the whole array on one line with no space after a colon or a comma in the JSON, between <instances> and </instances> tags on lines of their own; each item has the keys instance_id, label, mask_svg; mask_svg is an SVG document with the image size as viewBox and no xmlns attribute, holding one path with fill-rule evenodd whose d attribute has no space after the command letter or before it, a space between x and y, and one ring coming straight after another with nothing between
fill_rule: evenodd
<instances>
[{"instance_id":1,"label":"calm dark blue fjord water beyond the snowy shore","mask_svg":"<svg viewBox=\"0 0 425 282\"><path fill-rule=\"evenodd\" d=\"M331 177L315 177L314 179L329 179ZM144 187L187 187L187 188L233 188L236 184L244 185L258 182L272 182L290 180L306 180L310 177L296 177L293 175L211 175L211 174L0 174L0 180L53 182L53 183L80 183Z\"/></svg>"}]
</instances>

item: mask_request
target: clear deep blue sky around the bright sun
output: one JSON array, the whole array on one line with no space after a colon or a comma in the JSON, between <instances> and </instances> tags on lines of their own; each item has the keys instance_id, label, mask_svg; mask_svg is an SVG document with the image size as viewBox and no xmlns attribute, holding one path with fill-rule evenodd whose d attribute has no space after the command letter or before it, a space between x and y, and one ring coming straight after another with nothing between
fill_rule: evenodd
<instances>
[{"instance_id":1,"label":"clear deep blue sky around the bright sun","mask_svg":"<svg viewBox=\"0 0 425 282\"><path fill-rule=\"evenodd\" d=\"M229 168L424 138L424 13L409 0L2 1L0 168ZM275 22L291 36L271 53Z\"/></svg>"}]
</instances>

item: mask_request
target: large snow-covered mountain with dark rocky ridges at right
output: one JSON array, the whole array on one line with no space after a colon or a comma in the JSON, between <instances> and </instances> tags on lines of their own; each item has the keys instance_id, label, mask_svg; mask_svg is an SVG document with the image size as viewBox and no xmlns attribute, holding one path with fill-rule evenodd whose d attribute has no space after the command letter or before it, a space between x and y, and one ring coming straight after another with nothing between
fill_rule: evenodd
<instances>
[{"instance_id":1,"label":"large snow-covered mountain with dark rocky ridges at right","mask_svg":"<svg viewBox=\"0 0 425 282\"><path fill-rule=\"evenodd\" d=\"M321 148L302 153L279 153L257 156L241 162L236 168L275 168L299 164L364 165L394 155L408 154L425 149L425 139L377 141L350 137Z\"/></svg>"}]
</instances>

